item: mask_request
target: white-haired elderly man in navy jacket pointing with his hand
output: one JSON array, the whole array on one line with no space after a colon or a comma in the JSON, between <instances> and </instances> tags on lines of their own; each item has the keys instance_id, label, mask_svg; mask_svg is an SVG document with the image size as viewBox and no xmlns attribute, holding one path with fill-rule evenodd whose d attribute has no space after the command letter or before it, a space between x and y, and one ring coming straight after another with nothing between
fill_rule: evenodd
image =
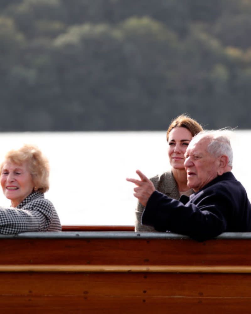
<instances>
[{"instance_id":1,"label":"white-haired elderly man in navy jacket pointing with his hand","mask_svg":"<svg viewBox=\"0 0 251 314\"><path fill-rule=\"evenodd\" d=\"M188 186L195 193L178 200L155 190L137 170L141 180L127 179L137 187L134 196L145 206L142 224L171 231L198 241L222 232L251 231L251 205L232 170L232 148L225 131L202 131L190 142L184 166Z\"/></svg>"}]
</instances>

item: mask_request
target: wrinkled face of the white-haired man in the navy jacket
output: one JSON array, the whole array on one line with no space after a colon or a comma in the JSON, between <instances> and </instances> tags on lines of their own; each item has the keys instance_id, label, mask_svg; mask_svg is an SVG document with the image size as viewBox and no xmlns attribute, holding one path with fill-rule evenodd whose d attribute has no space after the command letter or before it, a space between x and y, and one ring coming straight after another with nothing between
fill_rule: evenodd
<instances>
[{"instance_id":1,"label":"wrinkled face of the white-haired man in the navy jacket","mask_svg":"<svg viewBox=\"0 0 251 314\"><path fill-rule=\"evenodd\" d=\"M198 192L218 175L220 161L208 153L208 138L193 140L185 153L184 166L187 172L187 185Z\"/></svg>"}]
</instances>

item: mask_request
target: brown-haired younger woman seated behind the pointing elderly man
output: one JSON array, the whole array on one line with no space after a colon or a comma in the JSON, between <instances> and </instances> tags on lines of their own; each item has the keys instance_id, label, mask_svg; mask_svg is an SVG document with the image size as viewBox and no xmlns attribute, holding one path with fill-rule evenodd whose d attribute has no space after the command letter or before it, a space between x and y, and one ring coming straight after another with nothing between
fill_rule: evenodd
<instances>
[{"instance_id":1,"label":"brown-haired younger woman seated behind the pointing elderly man","mask_svg":"<svg viewBox=\"0 0 251 314\"><path fill-rule=\"evenodd\" d=\"M179 199L182 194L189 196L193 193L193 190L187 186L184 154L192 137L202 130L202 126L197 121L186 115L180 115L171 122L167 130L167 142L172 169L150 178L156 190L175 199ZM157 232L151 226L141 225L141 216L144 209L145 207L138 202L135 231Z\"/></svg>"}]
</instances>

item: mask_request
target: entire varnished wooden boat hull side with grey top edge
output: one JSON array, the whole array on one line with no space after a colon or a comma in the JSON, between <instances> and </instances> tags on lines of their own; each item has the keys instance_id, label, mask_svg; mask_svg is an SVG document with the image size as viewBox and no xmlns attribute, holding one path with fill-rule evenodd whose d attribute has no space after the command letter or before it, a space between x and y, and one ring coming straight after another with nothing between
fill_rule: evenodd
<instances>
[{"instance_id":1,"label":"entire varnished wooden boat hull side with grey top edge","mask_svg":"<svg viewBox=\"0 0 251 314\"><path fill-rule=\"evenodd\" d=\"M250 313L251 235L1 236L3 313Z\"/></svg>"}]
</instances>

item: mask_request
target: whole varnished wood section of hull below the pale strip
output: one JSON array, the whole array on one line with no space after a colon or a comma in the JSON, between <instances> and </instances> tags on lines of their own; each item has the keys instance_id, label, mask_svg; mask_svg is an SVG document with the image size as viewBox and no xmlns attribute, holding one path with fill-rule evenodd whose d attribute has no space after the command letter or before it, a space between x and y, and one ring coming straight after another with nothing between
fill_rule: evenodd
<instances>
[{"instance_id":1,"label":"whole varnished wood section of hull below the pale strip","mask_svg":"<svg viewBox=\"0 0 251 314\"><path fill-rule=\"evenodd\" d=\"M0 304L3 313L250 313L250 281L238 274L3 273Z\"/></svg>"}]
</instances>

